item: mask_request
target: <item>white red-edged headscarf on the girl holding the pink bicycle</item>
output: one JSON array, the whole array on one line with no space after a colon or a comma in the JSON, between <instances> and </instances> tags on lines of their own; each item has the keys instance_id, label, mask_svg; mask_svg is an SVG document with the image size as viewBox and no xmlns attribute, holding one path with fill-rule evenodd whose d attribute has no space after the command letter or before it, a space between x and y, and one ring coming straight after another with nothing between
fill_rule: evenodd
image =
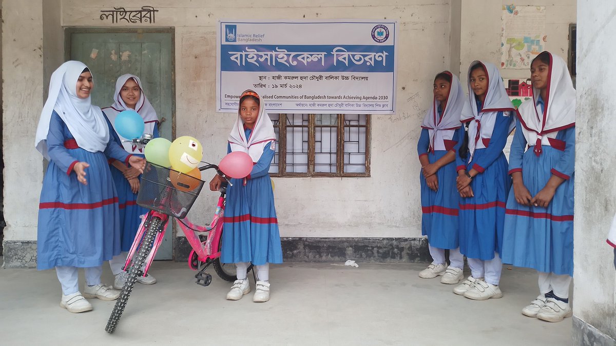
<instances>
[{"instance_id":1,"label":"white red-edged headscarf on the girl holding the pink bicycle","mask_svg":"<svg viewBox=\"0 0 616 346\"><path fill-rule=\"evenodd\" d=\"M259 115L257 116L253 130L248 138L246 138L244 122L240 116L241 98L246 95L254 96L259 99ZM252 90L242 92L240 96L240 107L238 107L237 119L229 134L229 144L231 146L231 151L243 151L248 153L253 159L253 162L256 163L259 161L259 158L261 158L265 145L269 142L275 142L276 140L274 125L267 113L265 113L265 104L263 100L256 92ZM274 145L274 143L272 143L272 145ZM272 150L273 149L274 147L272 147Z\"/></svg>"}]
</instances>

